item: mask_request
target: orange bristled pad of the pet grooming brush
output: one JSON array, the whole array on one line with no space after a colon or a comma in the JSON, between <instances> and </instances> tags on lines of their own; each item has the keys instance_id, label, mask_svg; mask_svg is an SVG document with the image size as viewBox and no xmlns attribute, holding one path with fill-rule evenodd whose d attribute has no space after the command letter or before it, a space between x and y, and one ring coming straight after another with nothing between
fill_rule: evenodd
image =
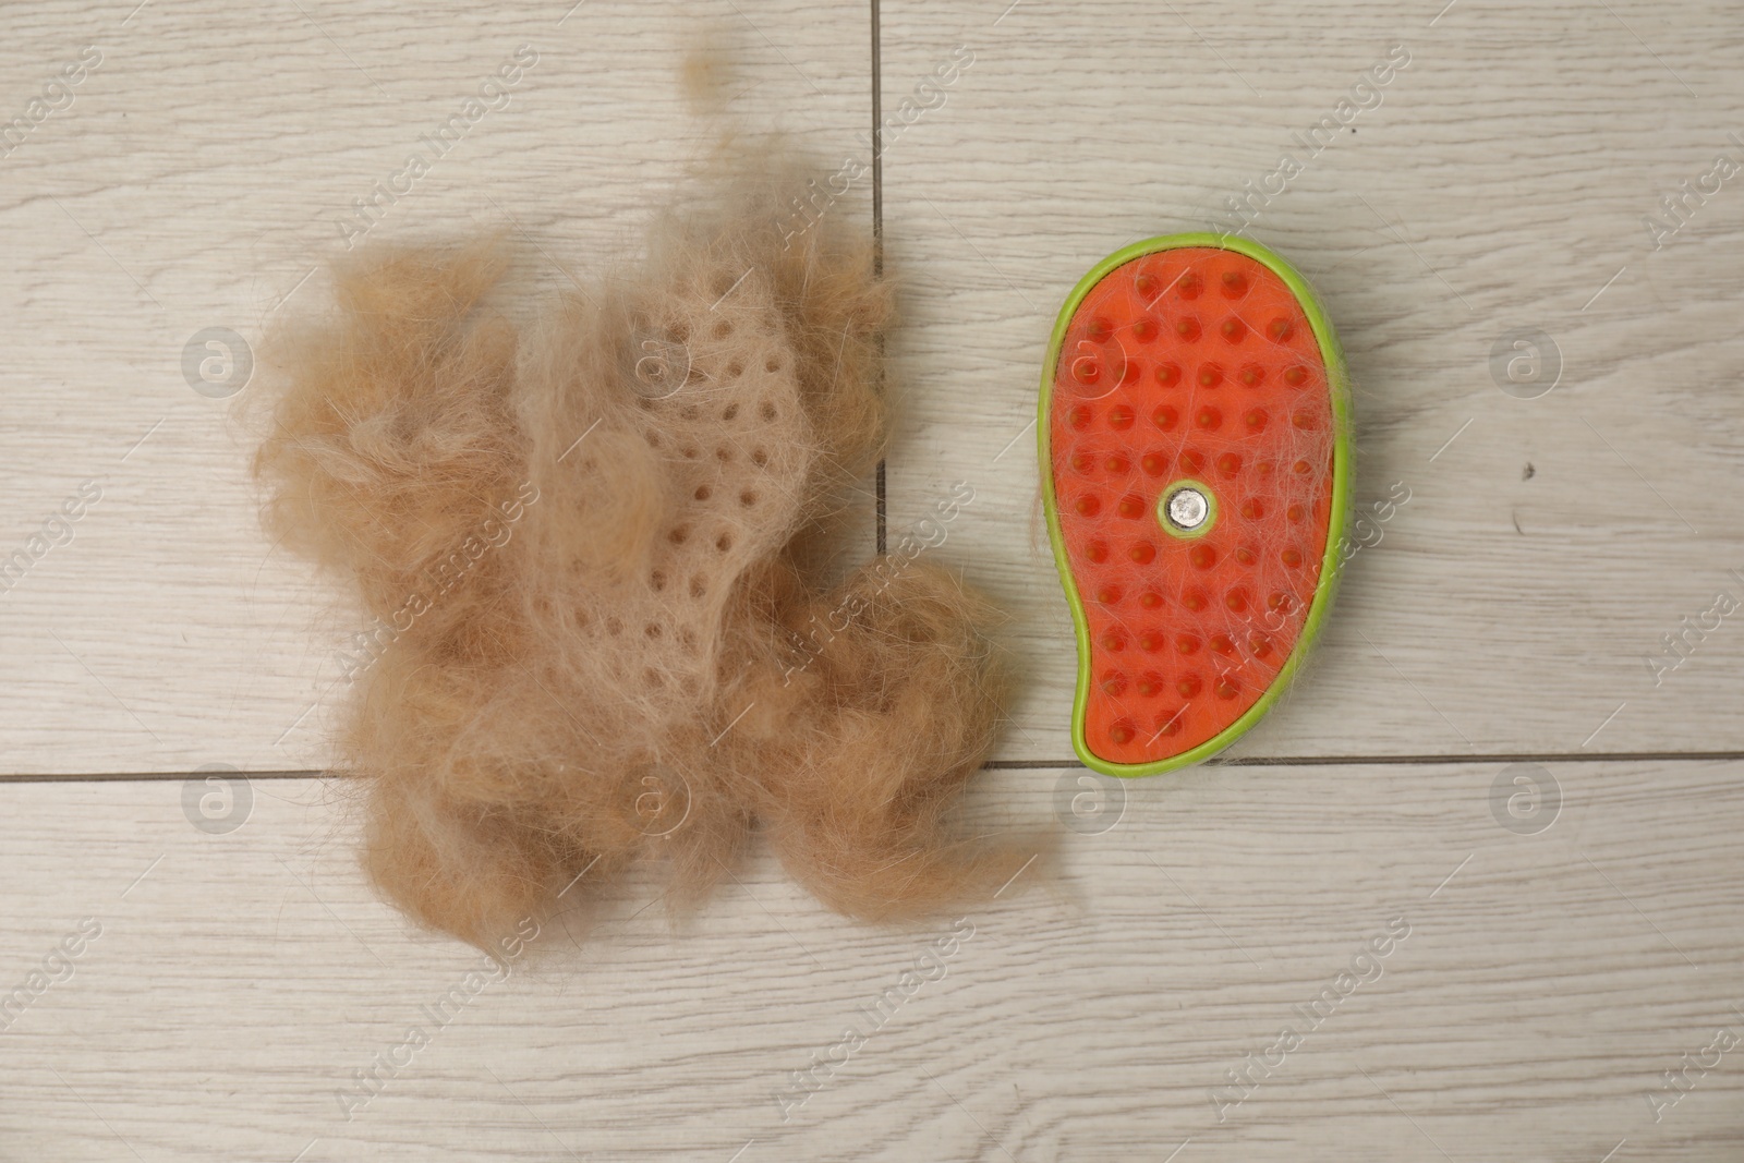
<instances>
[{"instance_id":1,"label":"orange bristled pad of the pet grooming brush","mask_svg":"<svg viewBox=\"0 0 1744 1163\"><path fill-rule=\"evenodd\" d=\"M1245 255L1144 255L1073 312L1050 448L1090 638L1083 741L1099 758L1181 755L1271 685L1320 582L1334 422L1301 303ZM1196 537L1158 513L1181 481L1214 499Z\"/></svg>"}]
</instances>

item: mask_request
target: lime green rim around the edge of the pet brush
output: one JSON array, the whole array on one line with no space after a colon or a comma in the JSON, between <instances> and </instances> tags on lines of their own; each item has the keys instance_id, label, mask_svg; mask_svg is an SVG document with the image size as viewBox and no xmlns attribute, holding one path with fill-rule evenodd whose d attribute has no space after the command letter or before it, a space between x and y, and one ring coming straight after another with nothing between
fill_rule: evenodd
<instances>
[{"instance_id":1,"label":"lime green rim around the edge of the pet brush","mask_svg":"<svg viewBox=\"0 0 1744 1163\"><path fill-rule=\"evenodd\" d=\"M1123 267L1134 258L1195 246L1235 251L1236 255L1245 255L1271 270L1275 275L1284 279L1284 284L1296 296L1296 302L1301 303L1303 314L1308 316L1308 324L1313 328L1315 340L1320 345L1320 359L1325 363L1327 391L1332 396L1334 427L1332 513L1325 532L1325 558L1320 561L1320 582L1315 586L1313 600L1308 607L1308 621L1303 624L1296 647L1291 650L1291 656L1284 661L1284 666L1266 687L1264 694L1261 694L1240 718L1205 743L1200 743L1181 755L1160 758L1151 764L1113 764L1095 755L1085 741L1085 708L1090 697L1090 622L1085 617L1083 602L1078 596L1078 586L1073 582L1073 572L1066 563L1066 544L1060 537L1060 514L1053 497L1053 452L1050 446L1052 425L1048 417L1053 399L1053 375L1059 368L1060 347L1066 342L1066 328L1071 323L1073 314L1078 310L1078 305L1083 303L1085 295L1090 293L1090 288L1100 282L1111 270ZM1332 331L1332 324L1325 317L1325 310L1320 307L1318 296L1294 267L1259 242L1240 235L1207 232L1165 234L1114 251L1078 281L1073 293L1066 296L1059 319L1053 323L1053 337L1048 340L1048 357L1041 366L1041 394L1036 408L1036 443L1041 460L1041 497L1043 511L1048 518L1048 542L1053 546L1053 565L1060 572L1060 586L1066 589L1066 602L1073 609L1073 628L1078 636L1078 690L1073 696L1073 750L1078 752L1078 758L1081 758L1092 771L1099 771L1106 776L1120 776L1123 779L1158 776L1165 771L1175 771L1177 767L1188 767L1210 758L1247 734L1254 724L1257 724L1264 713L1271 710L1271 704L1278 701L1291 680L1296 677L1296 671L1301 670L1303 659L1313 647L1315 638L1318 638L1320 626L1325 622L1327 610L1332 605L1332 596L1338 593L1338 574L1343 565L1341 544L1350 509L1350 382L1345 368L1345 352L1338 343L1338 333Z\"/></svg>"}]
</instances>

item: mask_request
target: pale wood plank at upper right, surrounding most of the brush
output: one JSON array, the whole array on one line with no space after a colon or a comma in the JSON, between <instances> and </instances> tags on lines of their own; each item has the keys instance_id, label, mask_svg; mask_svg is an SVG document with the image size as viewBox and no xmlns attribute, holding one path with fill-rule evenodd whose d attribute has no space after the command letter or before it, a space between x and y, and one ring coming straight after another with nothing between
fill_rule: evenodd
<instances>
[{"instance_id":1,"label":"pale wood plank at upper right, surrounding most of the brush","mask_svg":"<svg viewBox=\"0 0 1744 1163\"><path fill-rule=\"evenodd\" d=\"M1645 661L1716 591L1744 600L1744 178L1662 249L1643 227L1716 155L1744 164L1734 5L888 0L882 30L886 110L954 45L975 54L884 157L909 282L889 520L947 481L977 490L938 554L1013 616L1025 687L1003 755L1071 755L1071 621L1025 431L1060 302L1104 255L1207 228L1280 152L1306 157L1291 134L1393 45L1411 63L1252 235L1317 282L1345 342L1357 502L1395 481L1413 500L1235 753L1744 746L1735 619L1662 685ZM1563 373L1516 399L1489 356L1528 326Z\"/></svg>"}]
</instances>

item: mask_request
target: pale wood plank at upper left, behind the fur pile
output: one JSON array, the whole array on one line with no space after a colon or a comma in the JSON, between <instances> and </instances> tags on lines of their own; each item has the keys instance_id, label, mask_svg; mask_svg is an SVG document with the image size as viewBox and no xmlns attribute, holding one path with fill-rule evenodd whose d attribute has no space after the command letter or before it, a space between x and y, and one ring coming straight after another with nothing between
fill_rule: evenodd
<instances>
[{"instance_id":1,"label":"pale wood plank at upper left, behind the fur pile","mask_svg":"<svg viewBox=\"0 0 1744 1163\"><path fill-rule=\"evenodd\" d=\"M368 237L502 227L565 282L637 242L706 148L677 82L712 40L731 112L834 155L870 124L865 3L218 0L12 5L5 119L92 45L101 63L0 159L0 558L80 481L103 497L0 595L0 750L19 772L319 767L363 628L263 539L228 403L192 391L209 326L258 342L319 302L354 199L429 173ZM439 157L422 145L537 54ZM56 103L66 96L54 89ZM399 187L408 185L399 178ZM856 190L841 213L870 213ZM305 279L307 277L307 279ZM316 706L319 703L319 706Z\"/></svg>"}]
</instances>

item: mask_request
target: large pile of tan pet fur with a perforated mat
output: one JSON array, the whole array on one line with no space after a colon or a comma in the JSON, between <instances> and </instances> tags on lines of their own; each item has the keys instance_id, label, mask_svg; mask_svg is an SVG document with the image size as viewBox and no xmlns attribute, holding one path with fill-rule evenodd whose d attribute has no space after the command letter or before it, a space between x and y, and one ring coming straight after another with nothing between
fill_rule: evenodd
<instances>
[{"instance_id":1,"label":"large pile of tan pet fur with a perforated mat","mask_svg":"<svg viewBox=\"0 0 1744 1163\"><path fill-rule=\"evenodd\" d=\"M1001 717L989 610L926 563L807 565L881 448L889 291L780 173L738 166L535 324L487 241L370 251L281 340L267 523L391 628L340 767L427 926L488 945L644 854L694 900L755 821L872 919L1032 851L950 823Z\"/></svg>"}]
</instances>

